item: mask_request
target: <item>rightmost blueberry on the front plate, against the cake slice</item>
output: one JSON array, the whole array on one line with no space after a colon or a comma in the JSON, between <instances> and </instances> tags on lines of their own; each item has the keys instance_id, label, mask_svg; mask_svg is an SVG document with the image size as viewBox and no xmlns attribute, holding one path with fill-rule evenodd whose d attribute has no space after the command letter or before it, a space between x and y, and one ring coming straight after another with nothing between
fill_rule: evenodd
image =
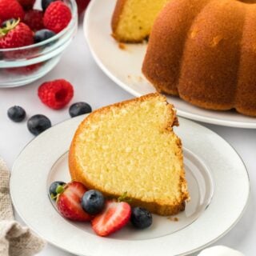
<instances>
[{"instance_id":1,"label":"rightmost blueberry on the front plate, against the cake slice","mask_svg":"<svg viewBox=\"0 0 256 256\"><path fill-rule=\"evenodd\" d=\"M152 214L142 207L134 207L131 211L130 222L138 229L146 229L152 224Z\"/></svg>"}]
</instances>

